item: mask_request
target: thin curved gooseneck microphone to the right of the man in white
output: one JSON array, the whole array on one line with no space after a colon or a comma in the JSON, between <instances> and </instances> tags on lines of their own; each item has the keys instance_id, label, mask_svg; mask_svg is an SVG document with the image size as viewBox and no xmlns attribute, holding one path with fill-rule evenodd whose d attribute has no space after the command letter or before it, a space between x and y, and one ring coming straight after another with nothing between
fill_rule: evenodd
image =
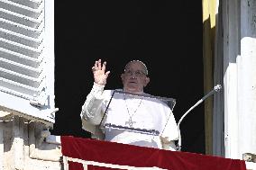
<instances>
[{"instance_id":1,"label":"thin curved gooseneck microphone to the right of the man in white","mask_svg":"<svg viewBox=\"0 0 256 170\"><path fill-rule=\"evenodd\" d=\"M206 94L202 99L200 99L190 109L188 109L187 112L179 119L179 121L178 121L178 147L177 147L178 151L181 150L181 135L180 135L180 130L179 130L179 125L180 125L181 121L183 121L185 116L187 116L188 112L192 111L195 107L197 107L197 105L199 105L200 103L204 102L206 100L206 98L208 98L212 94L215 94L216 92L219 92L221 90L221 88L222 88L222 85L215 85L215 87L214 87L214 89L212 91L210 91L208 94Z\"/></svg>"}]
</instances>

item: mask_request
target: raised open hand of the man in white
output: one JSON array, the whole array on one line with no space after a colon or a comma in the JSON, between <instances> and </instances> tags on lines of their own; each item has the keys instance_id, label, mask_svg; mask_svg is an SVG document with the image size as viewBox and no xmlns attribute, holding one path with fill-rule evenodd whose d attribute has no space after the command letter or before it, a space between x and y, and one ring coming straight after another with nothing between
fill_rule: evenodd
<instances>
[{"instance_id":1,"label":"raised open hand of the man in white","mask_svg":"<svg viewBox=\"0 0 256 170\"><path fill-rule=\"evenodd\" d=\"M101 59L99 59L95 62L95 66L92 67L95 83L97 85L106 84L106 78L109 75L110 71L105 72L105 65L106 65L106 62L104 61L104 63L101 64Z\"/></svg>"}]
</instances>

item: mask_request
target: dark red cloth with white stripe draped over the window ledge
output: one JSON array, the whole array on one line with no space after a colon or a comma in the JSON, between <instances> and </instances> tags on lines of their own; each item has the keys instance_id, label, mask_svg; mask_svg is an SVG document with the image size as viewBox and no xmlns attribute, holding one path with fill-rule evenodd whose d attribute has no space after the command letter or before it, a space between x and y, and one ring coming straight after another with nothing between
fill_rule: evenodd
<instances>
[{"instance_id":1,"label":"dark red cloth with white stripe draped over the window ledge","mask_svg":"<svg viewBox=\"0 0 256 170\"><path fill-rule=\"evenodd\" d=\"M62 136L61 151L65 157L119 166L159 167L170 170L245 170L240 159L212 157L189 152L143 148L133 145ZM69 161L69 170L82 170L79 163ZM88 166L89 170L114 169ZM118 168L117 168L118 169Z\"/></svg>"}]
</instances>

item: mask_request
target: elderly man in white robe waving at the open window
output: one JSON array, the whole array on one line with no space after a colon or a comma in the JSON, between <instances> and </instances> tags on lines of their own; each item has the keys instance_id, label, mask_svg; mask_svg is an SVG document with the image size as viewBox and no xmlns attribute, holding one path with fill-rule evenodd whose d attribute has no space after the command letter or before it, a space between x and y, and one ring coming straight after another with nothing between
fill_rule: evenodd
<instances>
[{"instance_id":1,"label":"elderly man in white robe waving at the open window","mask_svg":"<svg viewBox=\"0 0 256 170\"><path fill-rule=\"evenodd\" d=\"M106 62L101 59L92 67L94 85L80 113L83 129L91 132L94 139L176 150L178 127L169 106L158 99L143 97L143 89L150 82L145 64L133 60L124 67L123 89L117 89L123 93L105 90L110 74L105 68Z\"/></svg>"}]
</instances>

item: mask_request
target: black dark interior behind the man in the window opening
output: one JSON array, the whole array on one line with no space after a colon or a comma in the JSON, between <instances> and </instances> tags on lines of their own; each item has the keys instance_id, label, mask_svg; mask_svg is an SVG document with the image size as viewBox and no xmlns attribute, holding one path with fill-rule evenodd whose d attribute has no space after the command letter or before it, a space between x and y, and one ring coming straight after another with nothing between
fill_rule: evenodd
<instances>
[{"instance_id":1,"label":"black dark interior behind the man in the window opening","mask_svg":"<svg viewBox=\"0 0 256 170\"><path fill-rule=\"evenodd\" d=\"M132 59L148 67L145 92L177 100L179 118L203 96L201 1L55 1L56 122L52 134L90 138L80 111L93 85L91 67L107 61L105 88L122 87ZM182 121L182 151L205 153L203 103Z\"/></svg>"}]
</instances>

